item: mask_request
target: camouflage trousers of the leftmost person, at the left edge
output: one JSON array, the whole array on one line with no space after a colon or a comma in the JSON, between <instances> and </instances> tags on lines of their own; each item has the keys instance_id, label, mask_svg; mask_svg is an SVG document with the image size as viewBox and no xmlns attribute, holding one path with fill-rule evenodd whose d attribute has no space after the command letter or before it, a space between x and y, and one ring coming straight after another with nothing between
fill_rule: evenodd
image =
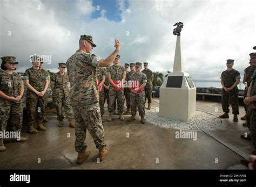
<instances>
[{"instance_id":1,"label":"camouflage trousers of the leftmost person, at the left edge","mask_svg":"<svg viewBox=\"0 0 256 187\"><path fill-rule=\"evenodd\" d=\"M9 100L0 103L0 131L21 131L23 104Z\"/></svg>"}]
</instances>

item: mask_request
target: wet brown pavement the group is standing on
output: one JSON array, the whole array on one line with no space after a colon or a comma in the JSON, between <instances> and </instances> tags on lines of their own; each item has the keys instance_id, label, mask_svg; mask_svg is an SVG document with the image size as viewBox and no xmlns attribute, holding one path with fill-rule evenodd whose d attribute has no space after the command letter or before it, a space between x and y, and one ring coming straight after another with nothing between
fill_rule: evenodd
<instances>
[{"instance_id":1,"label":"wet brown pavement the group is standing on","mask_svg":"<svg viewBox=\"0 0 256 187\"><path fill-rule=\"evenodd\" d=\"M152 107L158 106L158 99L154 98ZM223 113L221 103L197 100L197 109L216 116ZM240 160L250 155L252 143L240 139L240 134L248 132L242 126L245 121L240 120L244 116L242 106L240 112L238 123L232 121L231 114L230 119L222 120L221 126L197 131L196 141L176 139L179 130L147 122L140 124L139 116L132 122L127 121L130 116L124 116L125 121L113 116L111 122L103 123L109 155L99 163L98 149L87 133L87 148L92 155L77 165L75 130L66 119L64 127L58 127L56 113L51 109L45 114L50 120L44 123L46 131L23 132L26 142L4 143L6 150L0 153L0 169L246 169ZM105 119L107 115L105 105Z\"/></svg>"}]
</instances>

